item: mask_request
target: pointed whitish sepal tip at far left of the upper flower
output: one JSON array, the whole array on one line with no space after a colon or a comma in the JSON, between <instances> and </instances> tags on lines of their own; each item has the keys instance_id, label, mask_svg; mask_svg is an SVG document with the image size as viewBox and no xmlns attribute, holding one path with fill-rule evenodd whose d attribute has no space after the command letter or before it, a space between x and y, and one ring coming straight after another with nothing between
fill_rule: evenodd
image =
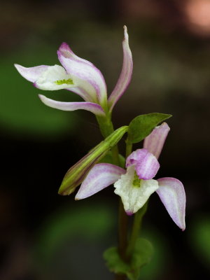
<instances>
[{"instance_id":1,"label":"pointed whitish sepal tip at far left of the upper flower","mask_svg":"<svg viewBox=\"0 0 210 280\"><path fill-rule=\"evenodd\" d=\"M18 70L20 75L29 80L29 82L34 83L43 72L45 72L48 69L48 65L39 65L34 67L24 67L19 64L15 64L15 68Z\"/></svg>"}]
</instances>

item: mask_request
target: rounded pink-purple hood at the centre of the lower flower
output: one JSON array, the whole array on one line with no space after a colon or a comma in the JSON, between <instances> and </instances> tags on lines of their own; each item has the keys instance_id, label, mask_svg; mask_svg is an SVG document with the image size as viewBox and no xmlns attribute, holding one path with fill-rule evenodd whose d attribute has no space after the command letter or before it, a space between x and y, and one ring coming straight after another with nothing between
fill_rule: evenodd
<instances>
[{"instance_id":1,"label":"rounded pink-purple hood at the centre of the lower flower","mask_svg":"<svg viewBox=\"0 0 210 280\"><path fill-rule=\"evenodd\" d=\"M135 166L139 179L151 180L158 172L160 164L152 153L146 149L138 149L132 152L126 160L126 167Z\"/></svg>"}]
</instances>

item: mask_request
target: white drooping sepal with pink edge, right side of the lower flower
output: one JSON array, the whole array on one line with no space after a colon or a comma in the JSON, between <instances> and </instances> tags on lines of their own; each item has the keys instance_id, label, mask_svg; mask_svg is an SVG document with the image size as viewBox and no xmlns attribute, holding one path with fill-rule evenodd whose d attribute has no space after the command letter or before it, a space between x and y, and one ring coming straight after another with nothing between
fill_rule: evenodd
<instances>
[{"instance_id":1,"label":"white drooping sepal with pink edge, right side of the lower flower","mask_svg":"<svg viewBox=\"0 0 210 280\"><path fill-rule=\"evenodd\" d=\"M186 193L181 181L175 178L158 179L158 193L169 215L181 230L186 229Z\"/></svg>"}]
</instances>

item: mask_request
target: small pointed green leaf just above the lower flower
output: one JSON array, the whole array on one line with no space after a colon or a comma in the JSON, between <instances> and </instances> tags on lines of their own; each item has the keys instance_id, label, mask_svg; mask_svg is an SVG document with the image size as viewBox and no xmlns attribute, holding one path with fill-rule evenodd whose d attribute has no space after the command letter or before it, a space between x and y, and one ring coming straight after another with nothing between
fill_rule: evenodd
<instances>
[{"instance_id":1,"label":"small pointed green leaf just above the lower flower","mask_svg":"<svg viewBox=\"0 0 210 280\"><path fill-rule=\"evenodd\" d=\"M130 122L127 132L127 142L130 144L140 142L147 137L148 134L151 134L159 123L171 117L172 115L163 113L148 113L146 115L137 116Z\"/></svg>"}]
</instances>

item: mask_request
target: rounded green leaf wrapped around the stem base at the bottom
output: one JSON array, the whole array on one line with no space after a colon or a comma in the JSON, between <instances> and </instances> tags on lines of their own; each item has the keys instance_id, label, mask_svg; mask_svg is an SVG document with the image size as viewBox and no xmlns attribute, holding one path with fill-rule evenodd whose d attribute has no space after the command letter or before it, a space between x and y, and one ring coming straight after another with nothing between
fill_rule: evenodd
<instances>
[{"instance_id":1,"label":"rounded green leaf wrapped around the stem base at the bottom","mask_svg":"<svg viewBox=\"0 0 210 280\"><path fill-rule=\"evenodd\" d=\"M118 253L118 248L112 247L104 252L106 265L111 272L126 274L128 279L139 279L140 269L151 261L153 246L150 241L144 238L137 239L132 259L129 263L123 261Z\"/></svg>"}]
</instances>

